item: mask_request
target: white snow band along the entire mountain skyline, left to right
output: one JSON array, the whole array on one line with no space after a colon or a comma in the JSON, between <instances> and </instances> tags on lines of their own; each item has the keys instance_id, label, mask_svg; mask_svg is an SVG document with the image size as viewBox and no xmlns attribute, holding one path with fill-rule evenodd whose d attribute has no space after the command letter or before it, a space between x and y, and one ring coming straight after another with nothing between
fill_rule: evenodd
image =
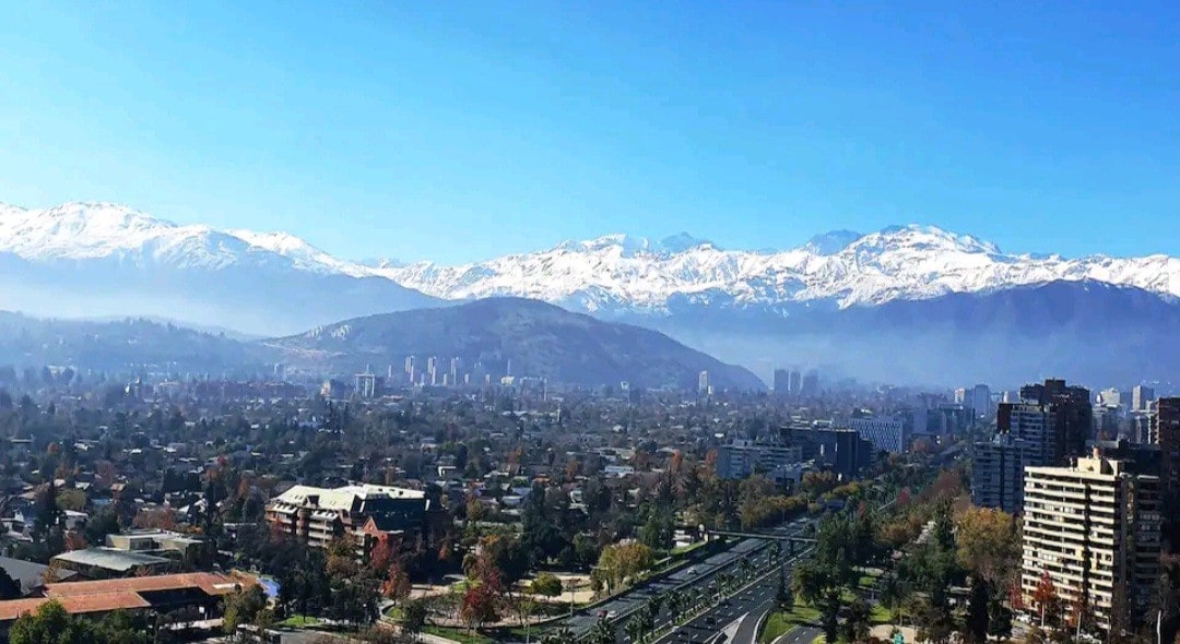
<instances>
[{"instance_id":1,"label":"white snow band along the entire mountain skyline, left to right","mask_svg":"<svg viewBox=\"0 0 1180 644\"><path fill-rule=\"evenodd\" d=\"M381 277L446 300L519 296L581 310L667 311L676 302L841 307L1092 280L1180 297L1180 258L1004 255L936 226L838 230L789 250L722 250L687 234L658 242L605 235L487 262L358 263L287 232L177 225L105 203L34 210L0 204L0 252L31 262L114 261L144 268L228 267Z\"/></svg>"}]
</instances>

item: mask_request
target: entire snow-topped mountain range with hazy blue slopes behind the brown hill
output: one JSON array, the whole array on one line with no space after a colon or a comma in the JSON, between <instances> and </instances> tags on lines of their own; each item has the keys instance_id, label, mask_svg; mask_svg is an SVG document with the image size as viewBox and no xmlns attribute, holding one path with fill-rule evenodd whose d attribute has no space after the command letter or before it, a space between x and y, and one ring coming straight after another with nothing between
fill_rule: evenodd
<instances>
[{"instance_id":1,"label":"entire snow-topped mountain range with hazy blue slopes behind the brown hill","mask_svg":"<svg viewBox=\"0 0 1180 644\"><path fill-rule=\"evenodd\" d=\"M0 309L276 336L502 296L658 329L763 377L804 364L925 382L1169 379L1180 343L1180 258L1014 255L935 226L786 250L610 235L441 265L354 262L113 204L0 206ZM1017 343L1020 360L1001 350Z\"/></svg>"}]
</instances>

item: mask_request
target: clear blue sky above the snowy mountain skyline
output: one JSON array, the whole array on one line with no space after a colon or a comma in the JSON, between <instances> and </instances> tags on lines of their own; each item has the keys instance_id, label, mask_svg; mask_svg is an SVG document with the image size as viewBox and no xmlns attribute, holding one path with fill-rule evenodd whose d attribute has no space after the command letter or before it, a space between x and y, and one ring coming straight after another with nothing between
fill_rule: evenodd
<instances>
[{"instance_id":1,"label":"clear blue sky above the snowy mountain skyline","mask_svg":"<svg viewBox=\"0 0 1180 644\"><path fill-rule=\"evenodd\" d=\"M1180 5L876 5L19 2L0 201L354 258L907 222L1180 252Z\"/></svg>"}]
</instances>

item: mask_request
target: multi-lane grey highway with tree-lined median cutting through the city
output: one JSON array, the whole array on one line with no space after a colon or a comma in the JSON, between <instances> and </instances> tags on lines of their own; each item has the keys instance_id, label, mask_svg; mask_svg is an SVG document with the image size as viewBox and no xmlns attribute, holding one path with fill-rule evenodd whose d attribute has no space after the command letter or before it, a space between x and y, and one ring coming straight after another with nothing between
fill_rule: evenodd
<instances>
[{"instance_id":1,"label":"multi-lane grey highway with tree-lined median cutting through the city","mask_svg":"<svg viewBox=\"0 0 1180 644\"><path fill-rule=\"evenodd\" d=\"M812 520L808 518L800 518L772 532L782 534L784 537L801 537L811 523ZM627 617L638 610L649 599L656 594L663 594L667 598L668 593L674 590L691 593L715 593L716 585L714 581L717 573L728 571L738 574L740 570L738 565L742 559L749 559L754 564L755 572L753 577L765 574L771 570L768 548L771 541L771 539L742 539L726 552L714 554L704 561L682 569L658 581L640 586L631 592L597 606L594 611L575 615L565 625L573 631L575 636L581 637L598 622L601 615L608 615L609 618L615 620L616 642L630 644L630 639L625 632ZM785 567L789 576L789 571L794 566L795 560L798 560L798 557L792 559L788 552L789 548L784 544L780 558L786 560ZM778 566L774 570L778 571ZM660 638L657 644L721 644L721 642L728 644L735 640L742 644L754 644L758 639L756 630L759 620L774 607L778 583L779 576L769 574L765 579L759 579L741 587L736 593L720 604L712 606L688 624L678 626ZM670 620L671 615L669 607L666 606L656 616L657 629L668 627ZM723 639L719 638L719 635L722 632L726 633Z\"/></svg>"}]
</instances>

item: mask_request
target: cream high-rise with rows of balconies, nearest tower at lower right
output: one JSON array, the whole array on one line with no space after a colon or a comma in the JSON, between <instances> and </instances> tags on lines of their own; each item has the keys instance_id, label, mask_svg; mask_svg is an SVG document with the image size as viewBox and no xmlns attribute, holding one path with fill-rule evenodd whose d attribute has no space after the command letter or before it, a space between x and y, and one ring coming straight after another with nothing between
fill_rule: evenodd
<instances>
[{"instance_id":1,"label":"cream high-rise with rows of balconies, nearest tower at lower right","mask_svg":"<svg viewBox=\"0 0 1180 644\"><path fill-rule=\"evenodd\" d=\"M1048 577L1064 606L1089 605L1104 633L1147 615L1160 573L1160 480L1099 453L1024 473L1021 590ZM1068 610L1068 609L1067 609Z\"/></svg>"}]
</instances>

